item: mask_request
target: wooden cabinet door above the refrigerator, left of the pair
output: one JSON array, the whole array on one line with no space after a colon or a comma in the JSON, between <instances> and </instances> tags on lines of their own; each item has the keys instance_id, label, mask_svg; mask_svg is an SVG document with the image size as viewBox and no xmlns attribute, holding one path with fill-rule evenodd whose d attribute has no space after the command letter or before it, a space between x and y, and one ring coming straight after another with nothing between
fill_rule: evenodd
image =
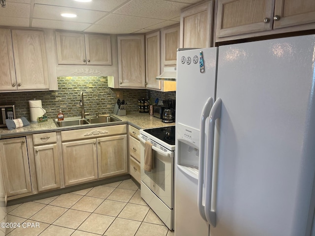
<instances>
[{"instance_id":1,"label":"wooden cabinet door above the refrigerator, left of the pair","mask_svg":"<svg viewBox=\"0 0 315 236\"><path fill-rule=\"evenodd\" d=\"M270 30L273 12L273 0L218 0L216 36Z\"/></svg>"}]
</instances>

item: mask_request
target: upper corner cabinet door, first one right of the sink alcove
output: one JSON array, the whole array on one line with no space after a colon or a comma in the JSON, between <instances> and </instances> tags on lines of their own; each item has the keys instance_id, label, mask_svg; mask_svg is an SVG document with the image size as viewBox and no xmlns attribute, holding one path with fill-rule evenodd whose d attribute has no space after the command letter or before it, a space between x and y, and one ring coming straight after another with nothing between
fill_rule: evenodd
<instances>
[{"instance_id":1,"label":"upper corner cabinet door, first one right of the sink alcove","mask_svg":"<svg viewBox=\"0 0 315 236\"><path fill-rule=\"evenodd\" d=\"M144 35L118 36L120 88L145 88Z\"/></svg>"}]
</instances>

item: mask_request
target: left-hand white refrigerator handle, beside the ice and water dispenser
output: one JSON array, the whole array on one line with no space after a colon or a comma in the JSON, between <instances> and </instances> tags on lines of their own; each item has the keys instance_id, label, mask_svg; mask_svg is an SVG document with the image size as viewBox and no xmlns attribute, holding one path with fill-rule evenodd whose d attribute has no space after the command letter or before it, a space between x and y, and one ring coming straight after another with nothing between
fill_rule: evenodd
<instances>
[{"instance_id":1,"label":"left-hand white refrigerator handle, beside the ice and water dispenser","mask_svg":"<svg viewBox=\"0 0 315 236\"><path fill-rule=\"evenodd\" d=\"M209 97L205 102L200 119L200 147L199 147L199 172L198 172L198 209L201 217L207 221L205 215L205 205L202 204L203 197L203 183L204 183L204 170L205 170L205 127L206 127L206 119L210 115L210 110L212 108L213 98Z\"/></svg>"}]
</instances>

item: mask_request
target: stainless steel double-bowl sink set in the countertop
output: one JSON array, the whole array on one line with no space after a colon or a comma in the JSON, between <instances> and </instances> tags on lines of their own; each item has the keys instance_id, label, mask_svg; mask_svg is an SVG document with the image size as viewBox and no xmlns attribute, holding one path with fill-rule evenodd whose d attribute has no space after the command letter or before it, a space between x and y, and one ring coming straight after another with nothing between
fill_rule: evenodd
<instances>
[{"instance_id":1,"label":"stainless steel double-bowl sink set in the countertop","mask_svg":"<svg viewBox=\"0 0 315 236\"><path fill-rule=\"evenodd\" d=\"M108 123L108 122L115 122L115 121L121 121L121 120L118 118L112 117L111 115L85 118L85 119L81 119L81 118L69 118L69 119L64 119L64 120L54 119L54 122L57 127L83 125L83 124L99 124L99 123Z\"/></svg>"}]
</instances>

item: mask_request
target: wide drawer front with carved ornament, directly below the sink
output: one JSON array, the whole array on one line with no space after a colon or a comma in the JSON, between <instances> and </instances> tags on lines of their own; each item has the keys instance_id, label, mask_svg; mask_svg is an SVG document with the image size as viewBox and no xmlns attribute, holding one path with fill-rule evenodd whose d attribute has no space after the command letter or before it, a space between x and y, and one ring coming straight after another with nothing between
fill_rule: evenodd
<instances>
[{"instance_id":1,"label":"wide drawer front with carved ornament, directly below the sink","mask_svg":"<svg viewBox=\"0 0 315 236\"><path fill-rule=\"evenodd\" d=\"M127 133L126 124L121 124L121 125L113 125L113 126L95 127L95 128L89 128L89 129L62 131L61 139L62 141L69 141L69 140L98 138L98 137L105 137L105 136L126 134L126 133Z\"/></svg>"}]
</instances>

